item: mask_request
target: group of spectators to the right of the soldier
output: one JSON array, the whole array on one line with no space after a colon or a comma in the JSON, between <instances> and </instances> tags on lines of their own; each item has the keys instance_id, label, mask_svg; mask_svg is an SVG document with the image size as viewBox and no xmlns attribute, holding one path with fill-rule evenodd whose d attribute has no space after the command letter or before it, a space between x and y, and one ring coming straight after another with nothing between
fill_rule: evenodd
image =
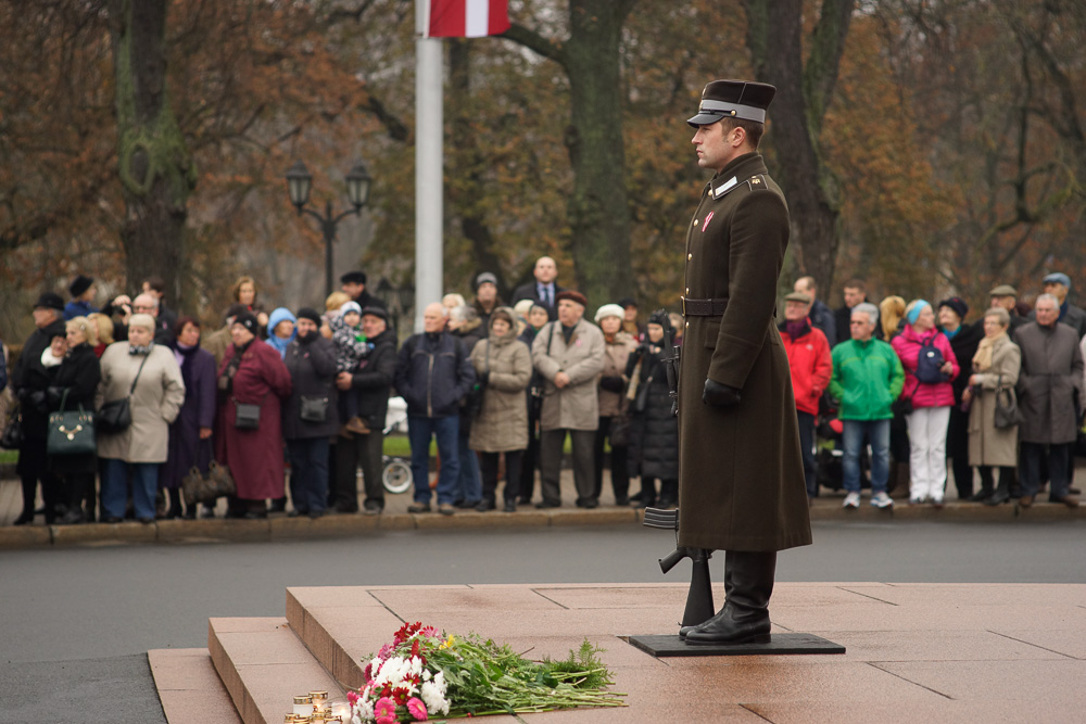
<instances>
[{"instance_id":1,"label":"group of spectators to the right of the soldier","mask_svg":"<svg viewBox=\"0 0 1086 724\"><path fill-rule=\"evenodd\" d=\"M819 494L821 419L839 435L845 508L860 505L864 456L870 503L879 508L895 497L942 507L948 460L960 500L1016 499L1027 508L1047 484L1049 501L1077 507L1086 313L1069 302L1065 274L1049 274L1041 284L1032 307L1013 287L994 288L989 307L970 321L960 297L933 306L887 296L875 306L857 279L844 285L845 305L831 310L815 281L799 279L785 297L780 331L808 498Z\"/></svg>"}]
</instances>

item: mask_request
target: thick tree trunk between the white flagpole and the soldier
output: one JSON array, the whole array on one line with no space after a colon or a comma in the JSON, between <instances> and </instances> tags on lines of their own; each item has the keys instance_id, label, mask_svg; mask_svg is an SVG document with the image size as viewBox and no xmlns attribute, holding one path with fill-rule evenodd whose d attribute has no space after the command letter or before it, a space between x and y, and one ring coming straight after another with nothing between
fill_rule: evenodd
<instances>
[{"instance_id":1,"label":"thick tree trunk between the white flagpole and the soldier","mask_svg":"<svg viewBox=\"0 0 1086 724\"><path fill-rule=\"evenodd\" d=\"M592 308L634 292L626 189L622 25L636 0L570 0L569 38L551 41L514 25L505 37L557 61L570 86L566 149L573 169L568 202L578 289Z\"/></svg>"}]
</instances>

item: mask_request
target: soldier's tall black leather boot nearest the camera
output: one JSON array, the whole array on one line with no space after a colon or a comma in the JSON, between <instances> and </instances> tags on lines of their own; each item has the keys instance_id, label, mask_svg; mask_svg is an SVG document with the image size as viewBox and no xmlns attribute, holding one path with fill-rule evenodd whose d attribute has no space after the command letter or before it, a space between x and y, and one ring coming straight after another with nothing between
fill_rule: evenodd
<instances>
[{"instance_id":1,"label":"soldier's tall black leather boot nearest the camera","mask_svg":"<svg viewBox=\"0 0 1086 724\"><path fill-rule=\"evenodd\" d=\"M689 644L746 644L769 642L769 599L773 595L776 551L729 550L725 579L732 590L717 615L686 634Z\"/></svg>"}]
</instances>

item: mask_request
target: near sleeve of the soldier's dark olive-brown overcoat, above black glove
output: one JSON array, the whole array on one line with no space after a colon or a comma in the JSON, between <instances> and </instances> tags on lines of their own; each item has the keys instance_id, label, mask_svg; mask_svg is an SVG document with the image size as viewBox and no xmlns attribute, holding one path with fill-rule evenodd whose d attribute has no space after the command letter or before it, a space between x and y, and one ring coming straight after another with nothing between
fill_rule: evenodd
<instances>
[{"instance_id":1,"label":"near sleeve of the soldier's dark olive-brown overcoat, above black glove","mask_svg":"<svg viewBox=\"0 0 1086 724\"><path fill-rule=\"evenodd\" d=\"M709 379L737 389L746 383L773 317L776 277L787 243L788 209L780 195L754 191L740 202L729 246L729 302L709 361Z\"/></svg>"}]
</instances>

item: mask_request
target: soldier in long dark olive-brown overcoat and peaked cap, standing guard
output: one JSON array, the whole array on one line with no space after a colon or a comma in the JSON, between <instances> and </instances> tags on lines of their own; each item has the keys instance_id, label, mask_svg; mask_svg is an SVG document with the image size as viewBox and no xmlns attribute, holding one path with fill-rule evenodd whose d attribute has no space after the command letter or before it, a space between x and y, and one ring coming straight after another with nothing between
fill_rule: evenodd
<instances>
[{"instance_id":1,"label":"soldier in long dark olive-brown overcoat and peaked cap, standing guard","mask_svg":"<svg viewBox=\"0 0 1086 724\"><path fill-rule=\"evenodd\" d=\"M758 151L776 89L714 80L693 143L716 174L686 234L679 379L679 545L725 550L720 611L690 643L768 640L776 551L811 542L776 284L788 207Z\"/></svg>"}]
</instances>

